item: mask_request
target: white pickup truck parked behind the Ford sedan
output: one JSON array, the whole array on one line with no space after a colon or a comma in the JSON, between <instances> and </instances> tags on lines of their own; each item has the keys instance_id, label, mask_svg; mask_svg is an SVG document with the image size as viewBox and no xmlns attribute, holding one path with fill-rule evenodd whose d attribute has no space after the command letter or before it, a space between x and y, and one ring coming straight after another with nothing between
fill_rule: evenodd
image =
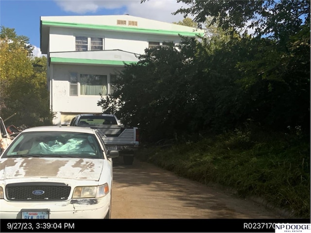
<instances>
[{"instance_id":1,"label":"white pickup truck parked behind the Ford sedan","mask_svg":"<svg viewBox=\"0 0 311 233\"><path fill-rule=\"evenodd\" d=\"M70 121L70 126L99 129L107 150L118 150L125 165L132 165L134 152L139 145L137 127L126 127L120 124L112 114L79 114Z\"/></svg>"}]
</instances>

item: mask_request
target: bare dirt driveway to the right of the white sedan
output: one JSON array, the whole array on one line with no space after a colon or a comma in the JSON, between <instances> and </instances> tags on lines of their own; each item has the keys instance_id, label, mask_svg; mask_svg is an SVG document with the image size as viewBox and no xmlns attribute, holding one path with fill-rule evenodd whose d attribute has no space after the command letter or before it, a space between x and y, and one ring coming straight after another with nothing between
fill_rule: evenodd
<instances>
[{"instance_id":1,"label":"bare dirt driveway to the right of the white sedan","mask_svg":"<svg viewBox=\"0 0 311 233\"><path fill-rule=\"evenodd\" d=\"M176 176L152 164L114 161L111 218L284 218L215 185Z\"/></svg>"}]
</instances>

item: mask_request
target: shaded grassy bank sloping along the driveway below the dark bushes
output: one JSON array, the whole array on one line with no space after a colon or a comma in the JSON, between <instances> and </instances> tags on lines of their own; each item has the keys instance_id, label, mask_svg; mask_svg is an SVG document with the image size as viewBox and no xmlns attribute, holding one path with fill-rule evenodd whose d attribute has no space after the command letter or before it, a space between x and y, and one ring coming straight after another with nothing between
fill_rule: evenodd
<instances>
[{"instance_id":1,"label":"shaded grassy bank sloping along the driveway below the dark bushes","mask_svg":"<svg viewBox=\"0 0 311 233\"><path fill-rule=\"evenodd\" d=\"M310 218L310 139L236 130L198 142L139 149L138 159L201 183L215 182Z\"/></svg>"}]
</instances>

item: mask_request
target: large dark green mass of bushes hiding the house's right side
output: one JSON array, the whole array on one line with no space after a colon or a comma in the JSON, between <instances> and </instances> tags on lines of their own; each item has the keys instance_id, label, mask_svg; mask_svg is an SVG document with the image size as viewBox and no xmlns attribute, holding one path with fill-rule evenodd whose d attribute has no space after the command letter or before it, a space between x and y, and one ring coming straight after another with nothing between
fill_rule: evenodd
<instances>
[{"instance_id":1,"label":"large dark green mass of bushes hiding the house's right side","mask_svg":"<svg viewBox=\"0 0 311 233\"><path fill-rule=\"evenodd\" d=\"M310 34L302 29L286 47L218 29L200 42L182 38L177 49L146 50L98 105L139 126L145 142L234 130L246 120L308 133Z\"/></svg>"}]
</instances>

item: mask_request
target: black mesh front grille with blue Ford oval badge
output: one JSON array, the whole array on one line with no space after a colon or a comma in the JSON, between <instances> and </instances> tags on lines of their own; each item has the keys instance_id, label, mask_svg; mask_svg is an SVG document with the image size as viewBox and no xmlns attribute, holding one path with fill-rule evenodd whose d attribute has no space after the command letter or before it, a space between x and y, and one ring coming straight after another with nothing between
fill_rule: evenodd
<instances>
[{"instance_id":1,"label":"black mesh front grille with blue Ford oval badge","mask_svg":"<svg viewBox=\"0 0 311 233\"><path fill-rule=\"evenodd\" d=\"M70 189L65 183L11 183L6 185L6 197L11 201L68 200Z\"/></svg>"}]
</instances>

